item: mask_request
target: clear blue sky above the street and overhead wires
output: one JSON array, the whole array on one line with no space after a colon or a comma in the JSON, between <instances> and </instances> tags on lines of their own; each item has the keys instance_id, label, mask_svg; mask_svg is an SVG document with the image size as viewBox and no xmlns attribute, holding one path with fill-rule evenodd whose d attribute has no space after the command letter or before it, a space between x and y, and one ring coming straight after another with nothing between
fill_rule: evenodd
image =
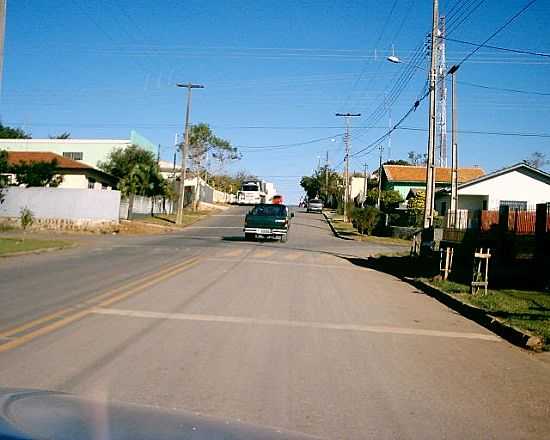
<instances>
[{"instance_id":1,"label":"clear blue sky above the street and overhead wires","mask_svg":"<svg viewBox=\"0 0 550 440\"><path fill-rule=\"evenodd\" d=\"M481 42L527 0L482 2L460 24L467 12L460 8L479 2L442 2L449 17L454 7L450 37ZM209 123L234 145L329 138L242 148L243 159L230 167L274 181L296 201L299 176L310 174L319 156L324 160L328 150L332 165L343 157L337 136L343 121L334 113L361 112L354 125L367 123L406 67L385 61L392 44L407 61L430 30L431 1L393 6L394 0L8 0L2 121L33 137L70 131L75 138L126 138L134 128L160 143L162 157L171 160L184 119L184 91L174 84L200 82L206 88L194 94L192 121ZM539 0L491 44L550 52L548 23L550 2ZM448 65L471 49L448 42ZM459 79L549 94L550 59L481 49ZM417 70L392 106L394 120L424 82ZM549 120L548 95L460 85L461 129L548 134ZM387 124L387 115L377 122ZM404 126L427 126L427 101ZM353 150L383 132L354 130ZM427 134L399 130L391 142L391 158L406 158L410 150L425 151ZM534 151L550 156L548 137L461 134L459 142L461 165L487 171ZM360 170L365 160L370 169L377 166L373 153L354 159L351 168Z\"/></svg>"}]
</instances>

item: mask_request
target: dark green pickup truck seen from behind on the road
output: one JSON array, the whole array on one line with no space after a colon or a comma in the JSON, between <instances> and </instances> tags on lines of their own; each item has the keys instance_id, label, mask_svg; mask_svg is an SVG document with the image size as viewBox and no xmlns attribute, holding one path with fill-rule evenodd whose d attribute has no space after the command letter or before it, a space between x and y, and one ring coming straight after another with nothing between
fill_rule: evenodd
<instances>
[{"instance_id":1,"label":"dark green pickup truck seen from behind on the road","mask_svg":"<svg viewBox=\"0 0 550 440\"><path fill-rule=\"evenodd\" d=\"M285 205L256 205L244 219L244 237L247 240L257 237L280 238L284 243L292 217L294 213L290 213Z\"/></svg>"}]
</instances>

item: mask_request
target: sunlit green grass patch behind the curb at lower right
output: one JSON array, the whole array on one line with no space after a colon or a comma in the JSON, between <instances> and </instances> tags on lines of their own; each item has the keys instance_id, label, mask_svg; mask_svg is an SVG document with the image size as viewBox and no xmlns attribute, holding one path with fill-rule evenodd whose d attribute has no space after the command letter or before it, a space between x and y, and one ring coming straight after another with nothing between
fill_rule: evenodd
<instances>
[{"instance_id":1,"label":"sunlit green grass patch behind the curb at lower right","mask_svg":"<svg viewBox=\"0 0 550 440\"><path fill-rule=\"evenodd\" d=\"M470 286L450 281L430 281L461 301L477 306L508 324L544 338L550 350L550 292L532 290L492 290L487 295L471 295Z\"/></svg>"}]
</instances>

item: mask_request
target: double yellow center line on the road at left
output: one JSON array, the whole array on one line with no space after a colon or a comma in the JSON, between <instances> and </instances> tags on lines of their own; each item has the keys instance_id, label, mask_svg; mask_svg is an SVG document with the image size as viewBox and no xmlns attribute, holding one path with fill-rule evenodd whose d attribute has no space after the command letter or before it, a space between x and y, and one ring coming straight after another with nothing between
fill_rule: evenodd
<instances>
[{"instance_id":1,"label":"double yellow center line on the road at left","mask_svg":"<svg viewBox=\"0 0 550 440\"><path fill-rule=\"evenodd\" d=\"M122 301L154 284L190 269L199 261L198 257L190 258L182 263L172 265L116 289L96 295L81 303L57 310L16 327L2 330L0 331L0 353L19 347L35 338L82 319L91 314L94 308L108 307L118 301ZM1 339L5 339L6 342L2 343Z\"/></svg>"}]
</instances>

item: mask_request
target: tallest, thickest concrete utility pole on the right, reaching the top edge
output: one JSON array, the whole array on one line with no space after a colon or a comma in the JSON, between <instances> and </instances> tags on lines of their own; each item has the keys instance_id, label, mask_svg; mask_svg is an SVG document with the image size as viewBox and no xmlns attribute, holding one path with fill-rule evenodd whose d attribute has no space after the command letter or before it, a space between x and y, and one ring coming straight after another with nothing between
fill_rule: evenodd
<instances>
[{"instance_id":1,"label":"tallest, thickest concrete utility pole on the right, reaching the top edge","mask_svg":"<svg viewBox=\"0 0 550 440\"><path fill-rule=\"evenodd\" d=\"M424 203L424 229L433 226L435 196L435 82L437 25L439 20L439 3L433 0L431 57L430 57L430 111L428 117L428 161L426 163L426 200Z\"/></svg>"}]
</instances>

